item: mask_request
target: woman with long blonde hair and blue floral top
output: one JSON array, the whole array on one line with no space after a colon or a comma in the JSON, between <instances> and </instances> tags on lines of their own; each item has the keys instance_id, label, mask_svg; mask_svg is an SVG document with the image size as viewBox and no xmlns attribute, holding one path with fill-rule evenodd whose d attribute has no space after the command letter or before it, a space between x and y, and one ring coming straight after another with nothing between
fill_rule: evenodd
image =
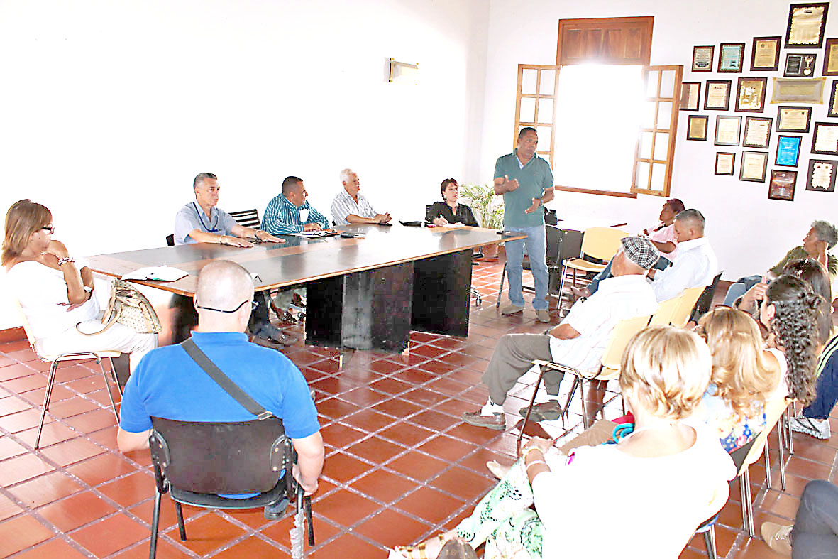
<instances>
[{"instance_id":1,"label":"woman with long blonde hair and blue floral top","mask_svg":"<svg viewBox=\"0 0 838 559\"><path fill-rule=\"evenodd\" d=\"M698 332L713 359L710 385L696 418L732 452L765 427L765 403L789 394L785 355L764 348L753 319L743 311L719 307L701 316Z\"/></svg>"}]
</instances>

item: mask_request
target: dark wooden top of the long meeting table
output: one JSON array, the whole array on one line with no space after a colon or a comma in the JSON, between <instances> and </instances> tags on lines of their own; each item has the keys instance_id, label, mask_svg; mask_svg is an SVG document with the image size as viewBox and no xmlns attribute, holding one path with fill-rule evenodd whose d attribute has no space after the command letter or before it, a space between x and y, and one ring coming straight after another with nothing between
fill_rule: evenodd
<instances>
[{"instance_id":1,"label":"dark wooden top of the long meeting table","mask_svg":"<svg viewBox=\"0 0 838 559\"><path fill-rule=\"evenodd\" d=\"M365 238L299 238L282 236L286 243L262 243L253 248L210 243L147 248L126 253L91 256L93 271L122 277L147 266L173 266L189 275L177 281L137 281L179 295L194 295L198 273L215 259L229 259L258 274L256 290L300 284L335 275L455 253L500 243L525 235L501 236L479 227L392 227L349 225L341 231L364 232Z\"/></svg>"}]
</instances>

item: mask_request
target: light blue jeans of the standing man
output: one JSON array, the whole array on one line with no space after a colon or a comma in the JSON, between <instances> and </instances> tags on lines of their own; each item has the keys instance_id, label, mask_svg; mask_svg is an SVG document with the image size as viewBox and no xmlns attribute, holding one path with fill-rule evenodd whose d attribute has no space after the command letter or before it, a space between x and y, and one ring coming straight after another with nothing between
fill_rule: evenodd
<instances>
[{"instance_id":1,"label":"light blue jeans of the standing man","mask_svg":"<svg viewBox=\"0 0 838 559\"><path fill-rule=\"evenodd\" d=\"M524 269L521 263L524 262L524 248L530 255L530 269L535 280L535 298L532 300L532 307L536 311L547 309L547 236L544 226L537 227L506 227L507 231L526 233L527 238L520 241L507 241L506 248L506 275L510 279L510 302L515 306L524 306L524 291L521 288L521 276Z\"/></svg>"}]
</instances>

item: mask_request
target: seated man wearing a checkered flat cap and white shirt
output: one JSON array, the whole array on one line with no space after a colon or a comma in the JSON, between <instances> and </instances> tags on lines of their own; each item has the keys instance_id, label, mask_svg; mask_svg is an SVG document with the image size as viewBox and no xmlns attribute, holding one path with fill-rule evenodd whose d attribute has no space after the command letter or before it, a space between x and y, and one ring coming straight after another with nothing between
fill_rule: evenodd
<instances>
[{"instance_id":1,"label":"seated man wearing a checkered flat cap and white shirt","mask_svg":"<svg viewBox=\"0 0 838 559\"><path fill-rule=\"evenodd\" d=\"M577 301L559 326L549 334L506 334L501 337L482 378L489 388L489 401L477 411L464 413L463 421L503 430L506 394L532 368L534 359L561 363L585 373L596 372L618 321L651 316L657 311L658 303L645 274L659 258L658 249L648 238L623 238L613 258L612 277L603 280L597 292L586 300ZM563 376L558 371L544 374L547 394L559 394ZM589 394L591 392L589 390ZM520 413L526 415L526 410L522 408ZM530 418L555 420L560 415L558 401L550 400L534 405Z\"/></svg>"}]
</instances>

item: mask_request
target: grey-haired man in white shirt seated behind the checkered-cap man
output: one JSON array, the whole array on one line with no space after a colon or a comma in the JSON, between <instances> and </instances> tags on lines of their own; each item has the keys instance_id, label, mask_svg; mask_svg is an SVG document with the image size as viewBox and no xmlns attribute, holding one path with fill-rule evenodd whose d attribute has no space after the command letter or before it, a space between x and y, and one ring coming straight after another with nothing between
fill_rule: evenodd
<instances>
[{"instance_id":1,"label":"grey-haired man in white shirt seated behind the checkered-cap man","mask_svg":"<svg viewBox=\"0 0 838 559\"><path fill-rule=\"evenodd\" d=\"M718 260L704 236L704 225L704 216L696 209L684 210L675 216L678 256L669 268L649 272L649 276L654 272L652 290L658 302L670 300L691 287L706 287L713 283Z\"/></svg>"}]
</instances>

